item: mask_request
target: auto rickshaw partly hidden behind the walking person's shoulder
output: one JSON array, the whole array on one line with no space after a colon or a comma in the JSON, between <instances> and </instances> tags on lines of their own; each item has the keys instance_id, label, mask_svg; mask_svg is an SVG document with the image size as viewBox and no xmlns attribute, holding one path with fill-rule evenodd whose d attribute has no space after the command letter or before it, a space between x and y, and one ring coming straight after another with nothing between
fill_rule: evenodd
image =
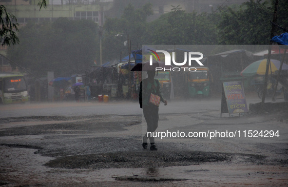
<instances>
[{"instance_id":1,"label":"auto rickshaw partly hidden behind the walking person's shoulder","mask_svg":"<svg viewBox=\"0 0 288 187\"><path fill-rule=\"evenodd\" d=\"M171 93L171 74L170 71L157 71L155 76L161 84L161 92L166 99L170 98Z\"/></svg>"}]
</instances>

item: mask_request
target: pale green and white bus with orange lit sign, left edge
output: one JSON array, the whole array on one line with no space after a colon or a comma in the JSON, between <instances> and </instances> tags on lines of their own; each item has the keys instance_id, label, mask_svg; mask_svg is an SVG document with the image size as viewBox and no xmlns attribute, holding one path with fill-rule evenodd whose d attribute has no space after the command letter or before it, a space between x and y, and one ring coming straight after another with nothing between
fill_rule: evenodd
<instances>
[{"instance_id":1,"label":"pale green and white bus with orange lit sign, left edge","mask_svg":"<svg viewBox=\"0 0 288 187\"><path fill-rule=\"evenodd\" d=\"M0 74L0 104L25 103L27 86L23 75Z\"/></svg>"}]
</instances>

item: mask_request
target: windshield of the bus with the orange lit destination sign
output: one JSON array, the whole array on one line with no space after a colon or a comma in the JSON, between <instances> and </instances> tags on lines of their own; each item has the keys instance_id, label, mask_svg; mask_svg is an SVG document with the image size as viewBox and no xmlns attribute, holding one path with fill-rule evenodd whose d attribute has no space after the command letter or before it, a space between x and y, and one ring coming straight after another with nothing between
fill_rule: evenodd
<instances>
[{"instance_id":1,"label":"windshield of the bus with the orange lit destination sign","mask_svg":"<svg viewBox=\"0 0 288 187\"><path fill-rule=\"evenodd\" d=\"M21 92L26 90L26 83L23 77L4 78L4 92Z\"/></svg>"}]
</instances>

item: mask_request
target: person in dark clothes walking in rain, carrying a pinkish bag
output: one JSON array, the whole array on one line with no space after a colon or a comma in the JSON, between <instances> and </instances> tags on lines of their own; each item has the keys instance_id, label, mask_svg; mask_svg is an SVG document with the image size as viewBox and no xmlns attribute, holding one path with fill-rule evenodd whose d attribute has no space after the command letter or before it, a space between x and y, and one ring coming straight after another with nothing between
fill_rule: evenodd
<instances>
[{"instance_id":1,"label":"person in dark clothes walking in rain, carrying a pinkish bag","mask_svg":"<svg viewBox=\"0 0 288 187\"><path fill-rule=\"evenodd\" d=\"M165 105L167 105L168 102L162 96L159 81L154 79L155 71L148 71L147 74L148 74L148 78L144 79L140 83L140 92L139 92L140 108L143 108L144 118L147 123L147 132L143 136L142 146L144 149L147 148L148 146L147 141L149 138L150 150L157 150L154 137L152 136L152 134L158 127L159 105L157 104L155 105L151 103L151 93L159 96L160 101L162 101Z\"/></svg>"}]
</instances>

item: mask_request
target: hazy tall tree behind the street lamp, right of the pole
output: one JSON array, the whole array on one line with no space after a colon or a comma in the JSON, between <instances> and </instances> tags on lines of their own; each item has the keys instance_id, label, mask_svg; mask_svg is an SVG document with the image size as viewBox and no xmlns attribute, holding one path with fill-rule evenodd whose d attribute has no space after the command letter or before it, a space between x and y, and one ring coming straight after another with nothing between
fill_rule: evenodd
<instances>
[{"instance_id":1,"label":"hazy tall tree behind the street lamp, right of the pole","mask_svg":"<svg viewBox=\"0 0 288 187\"><path fill-rule=\"evenodd\" d=\"M129 4L121 18L108 18L105 21L103 36L103 60L114 60L120 58L120 53L128 55L128 46L123 43L131 41L131 49L139 49L143 43L143 36L146 33L146 19L152 15L152 5L145 4L141 8L135 9Z\"/></svg>"}]
</instances>

